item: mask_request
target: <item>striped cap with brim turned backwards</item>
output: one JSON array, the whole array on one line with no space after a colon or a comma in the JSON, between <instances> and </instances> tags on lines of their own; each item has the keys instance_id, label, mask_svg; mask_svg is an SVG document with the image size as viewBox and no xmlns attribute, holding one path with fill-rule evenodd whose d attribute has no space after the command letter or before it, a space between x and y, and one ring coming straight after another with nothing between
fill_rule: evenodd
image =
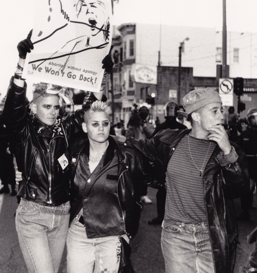
<instances>
[{"instance_id":1,"label":"striped cap with brim turned backwards","mask_svg":"<svg viewBox=\"0 0 257 273\"><path fill-rule=\"evenodd\" d=\"M178 111L178 113L187 117L188 114L210 103L222 103L217 91L211 89L195 89L190 91L183 98L185 112Z\"/></svg>"}]
</instances>

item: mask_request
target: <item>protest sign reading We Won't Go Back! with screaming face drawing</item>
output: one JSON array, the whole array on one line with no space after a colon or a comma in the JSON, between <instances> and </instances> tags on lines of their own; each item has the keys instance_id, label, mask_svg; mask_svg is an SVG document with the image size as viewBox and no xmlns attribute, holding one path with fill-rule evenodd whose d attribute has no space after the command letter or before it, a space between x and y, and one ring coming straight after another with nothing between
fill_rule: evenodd
<instances>
[{"instance_id":1,"label":"protest sign reading We Won't Go Back! with screaming face drawing","mask_svg":"<svg viewBox=\"0 0 257 273\"><path fill-rule=\"evenodd\" d=\"M111 0L35 0L23 78L99 92L112 37Z\"/></svg>"}]
</instances>

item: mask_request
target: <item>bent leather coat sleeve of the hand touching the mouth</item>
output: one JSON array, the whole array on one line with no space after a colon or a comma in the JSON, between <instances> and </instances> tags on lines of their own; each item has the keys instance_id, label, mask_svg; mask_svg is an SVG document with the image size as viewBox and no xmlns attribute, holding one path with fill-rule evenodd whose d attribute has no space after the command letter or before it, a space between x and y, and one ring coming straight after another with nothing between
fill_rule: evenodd
<instances>
[{"instance_id":1,"label":"bent leather coat sleeve of the hand touching the mouth","mask_svg":"<svg viewBox=\"0 0 257 273\"><path fill-rule=\"evenodd\" d=\"M225 193L232 198L238 198L250 190L249 170L245 154L236 144L231 145L232 153L234 150L238 158L225 166L221 164L222 180L225 184ZM219 156L217 158L222 161Z\"/></svg>"}]
</instances>

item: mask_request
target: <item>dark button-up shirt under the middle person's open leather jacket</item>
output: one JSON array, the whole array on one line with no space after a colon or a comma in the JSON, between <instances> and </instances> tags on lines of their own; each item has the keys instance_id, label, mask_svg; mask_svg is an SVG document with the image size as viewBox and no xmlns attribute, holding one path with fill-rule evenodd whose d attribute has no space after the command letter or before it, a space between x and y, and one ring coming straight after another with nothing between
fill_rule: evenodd
<instances>
[{"instance_id":1,"label":"dark button-up shirt under the middle person's open leather jacket","mask_svg":"<svg viewBox=\"0 0 257 273\"><path fill-rule=\"evenodd\" d=\"M74 184L75 195L82 200L83 217L88 238L125 233L118 200L118 156L110 142L95 170L88 165L89 145L82 150Z\"/></svg>"}]
</instances>

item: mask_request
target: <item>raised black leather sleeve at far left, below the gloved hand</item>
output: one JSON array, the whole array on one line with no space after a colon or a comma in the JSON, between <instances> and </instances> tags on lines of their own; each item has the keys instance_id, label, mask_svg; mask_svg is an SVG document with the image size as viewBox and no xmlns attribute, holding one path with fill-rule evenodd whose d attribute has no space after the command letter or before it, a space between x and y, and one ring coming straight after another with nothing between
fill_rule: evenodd
<instances>
[{"instance_id":1,"label":"raised black leather sleeve at far left, below the gloved hand","mask_svg":"<svg viewBox=\"0 0 257 273\"><path fill-rule=\"evenodd\" d=\"M3 118L5 125L12 133L20 132L26 125L26 89L13 83L13 77L7 90Z\"/></svg>"}]
</instances>

